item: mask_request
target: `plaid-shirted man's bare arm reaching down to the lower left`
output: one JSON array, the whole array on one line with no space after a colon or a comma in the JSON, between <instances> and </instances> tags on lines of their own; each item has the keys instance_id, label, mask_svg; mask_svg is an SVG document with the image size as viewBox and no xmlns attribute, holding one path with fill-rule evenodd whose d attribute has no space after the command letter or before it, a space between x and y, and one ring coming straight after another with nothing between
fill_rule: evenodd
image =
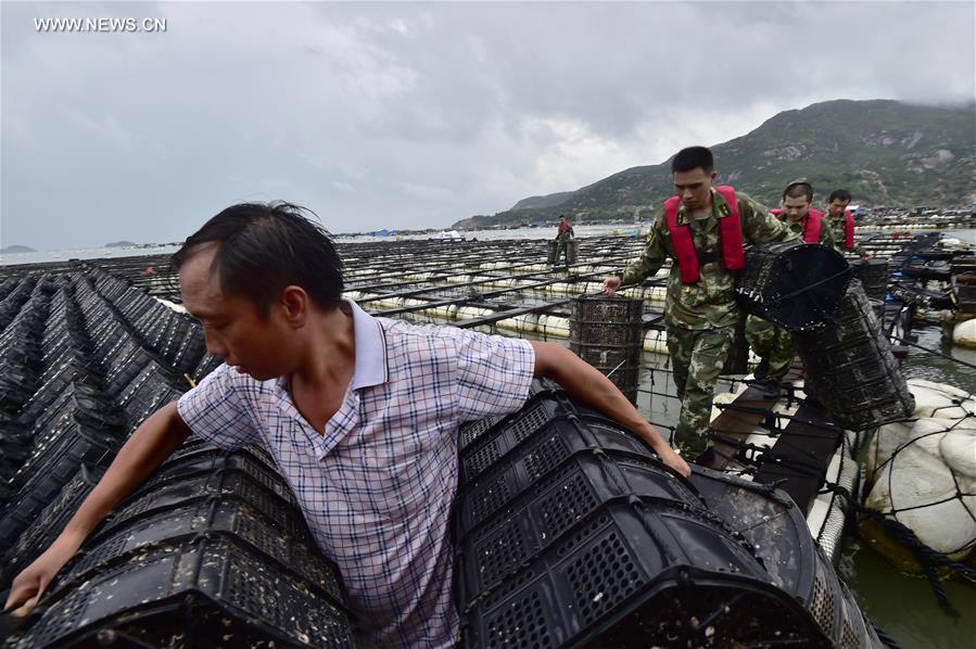
<instances>
[{"instance_id":1,"label":"plaid-shirted man's bare arm reaching down to the lower left","mask_svg":"<svg viewBox=\"0 0 976 649\"><path fill-rule=\"evenodd\" d=\"M15 614L29 613L91 531L173 455L189 434L190 429L176 412L176 402L156 410L136 429L64 531L14 578L4 609L23 605Z\"/></svg>"}]
</instances>

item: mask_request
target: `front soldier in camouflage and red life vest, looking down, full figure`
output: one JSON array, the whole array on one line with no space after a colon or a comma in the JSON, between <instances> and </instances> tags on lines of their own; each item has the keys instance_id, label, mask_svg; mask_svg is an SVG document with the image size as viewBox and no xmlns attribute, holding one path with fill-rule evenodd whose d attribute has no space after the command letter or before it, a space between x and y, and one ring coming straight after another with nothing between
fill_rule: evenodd
<instances>
[{"instance_id":1,"label":"front soldier in camouflage and red life vest, looking down, full figure","mask_svg":"<svg viewBox=\"0 0 976 649\"><path fill-rule=\"evenodd\" d=\"M735 273L743 245L794 237L765 207L731 187L712 187L714 161L705 147L682 149L671 162L675 195L658 211L641 256L603 291L654 277L669 257L664 324L681 412L674 445L699 457L710 441L715 382L732 347L739 308Z\"/></svg>"}]
</instances>

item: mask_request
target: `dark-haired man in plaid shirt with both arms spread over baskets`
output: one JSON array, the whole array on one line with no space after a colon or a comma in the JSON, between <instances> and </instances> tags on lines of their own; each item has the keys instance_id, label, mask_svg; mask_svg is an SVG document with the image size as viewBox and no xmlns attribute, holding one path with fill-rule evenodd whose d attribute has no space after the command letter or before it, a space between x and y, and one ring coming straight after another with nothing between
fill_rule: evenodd
<instances>
[{"instance_id":1,"label":"dark-haired man in plaid shirt with both arms spread over baskets","mask_svg":"<svg viewBox=\"0 0 976 649\"><path fill-rule=\"evenodd\" d=\"M617 387L562 346L373 318L341 298L328 234L287 203L228 207L174 255L187 309L225 358L126 442L65 530L14 581L33 607L86 536L194 432L274 455L366 640L448 647L448 538L460 422L518 410L549 377L687 465Z\"/></svg>"}]
</instances>

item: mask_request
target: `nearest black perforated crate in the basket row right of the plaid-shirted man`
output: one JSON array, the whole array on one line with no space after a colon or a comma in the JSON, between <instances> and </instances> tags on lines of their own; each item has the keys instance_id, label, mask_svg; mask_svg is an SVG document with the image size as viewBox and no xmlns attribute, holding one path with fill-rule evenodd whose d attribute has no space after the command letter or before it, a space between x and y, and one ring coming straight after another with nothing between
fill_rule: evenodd
<instances>
[{"instance_id":1,"label":"nearest black perforated crate in the basket row right of the plaid-shirted man","mask_svg":"<svg viewBox=\"0 0 976 649\"><path fill-rule=\"evenodd\" d=\"M468 647L822 646L751 548L672 501L604 506L462 615Z\"/></svg>"}]
</instances>

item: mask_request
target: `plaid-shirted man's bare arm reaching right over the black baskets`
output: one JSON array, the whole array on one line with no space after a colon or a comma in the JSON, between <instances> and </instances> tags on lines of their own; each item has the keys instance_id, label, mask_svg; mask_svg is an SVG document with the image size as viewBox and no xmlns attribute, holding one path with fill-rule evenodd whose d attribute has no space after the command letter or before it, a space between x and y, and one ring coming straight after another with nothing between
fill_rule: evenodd
<instances>
[{"instance_id":1,"label":"plaid-shirted man's bare arm reaching right over the black baskets","mask_svg":"<svg viewBox=\"0 0 976 649\"><path fill-rule=\"evenodd\" d=\"M581 402L641 435L666 465L686 478L690 475L688 463L674 453L610 379L561 345L540 342L531 344L535 349L536 377L553 379Z\"/></svg>"}]
</instances>

